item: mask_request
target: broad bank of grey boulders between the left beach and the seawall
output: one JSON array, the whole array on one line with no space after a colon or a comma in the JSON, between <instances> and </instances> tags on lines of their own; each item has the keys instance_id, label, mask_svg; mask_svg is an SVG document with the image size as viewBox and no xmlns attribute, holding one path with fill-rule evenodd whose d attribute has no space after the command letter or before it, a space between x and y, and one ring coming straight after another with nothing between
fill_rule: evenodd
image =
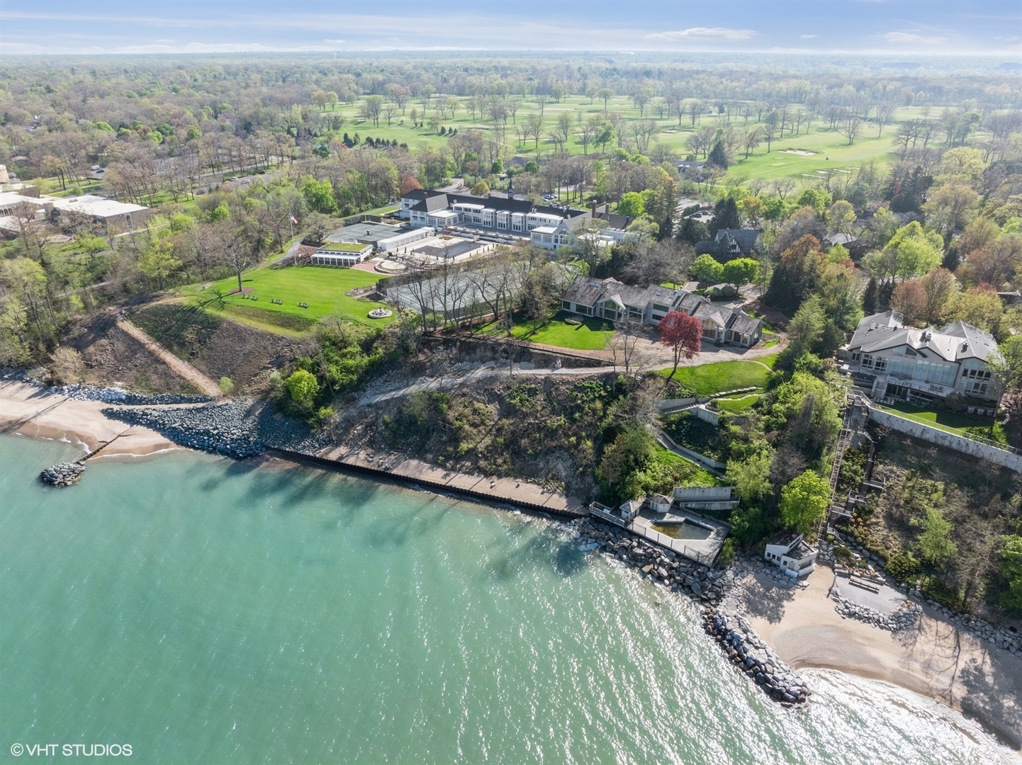
<instances>
[{"instance_id":1,"label":"broad bank of grey boulders between the left beach and the seawall","mask_svg":"<svg viewBox=\"0 0 1022 765\"><path fill-rule=\"evenodd\" d=\"M181 409L110 408L103 414L151 428L181 446L237 460L261 455L267 447L314 455L330 442L304 422L275 416L270 407L241 398Z\"/></svg>"}]
</instances>

